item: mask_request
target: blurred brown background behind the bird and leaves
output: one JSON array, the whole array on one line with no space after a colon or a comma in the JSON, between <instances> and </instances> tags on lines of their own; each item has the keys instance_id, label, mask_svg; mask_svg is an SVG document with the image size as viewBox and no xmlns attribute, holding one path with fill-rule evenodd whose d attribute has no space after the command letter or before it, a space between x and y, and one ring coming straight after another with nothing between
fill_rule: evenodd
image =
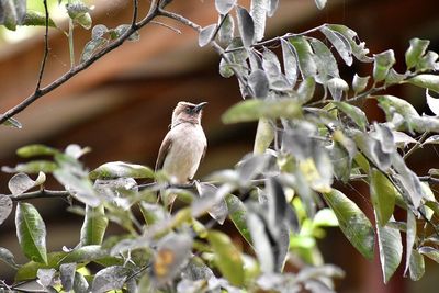
<instances>
[{"instance_id":1,"label":"blurred brown background behind the bird and leaves","mask_svg":"<svg viewBox=\"0 0 439 293\"><path fill-rule=\"evenodd\" d=\"M27 2L30 8L43 10L42 1ZM58 7L57 1L49 2L53 18L61 30L66 30L66 21L61 18L64 8ZM140 2L139 15L145 15L148 1ZM248 2L239 1L246 7ZM115 27L131 21L131 0L89 3L94 5L93 24ZM345 24L358 33L372 54L393 48L396 69L403 71L404 52L412 37L430 40L430 49L439 52L437 8L437 0L328 0L320 11L312 0L282 0L278 12L268 20L266 36L301 32L323 23ZM213 0L175 0L168 9L202 26L216 22ZM63 149L75 143L92 148L92 153L82 159L89 169L112 160L154 167L170 124L171 111L181 100L209 102L202 123L209 149L198 178L221 168L233 168L251 151L255 124L224 125L221 122L221 114L240 100L236 79L219 76L217 54L210 47L200 48L194 31L170 20L162 21L181 30L181 34L156 24L144 27L139 42L124 44L20 113L16 119L23 124L22 129L1 127L0 165L20 162L15 149L26 144L41 143ZM30 95L36 86L44 30L8 32L1 29L0 111L4 112ZM69 70L68 41L61 30L49 32L49 56L43 86ZM89 40L90 31L75 30L77 57ZM371 67L358 68L356 65L353 68L340 66L340 69L348 81L354 71L362 76L371 72ZM409 100L419 112L427 111L424 91L401 87L392 89L391 93ZM382 117L373 104L368 111L370 120ZM419 153L413 156L410 167L426 173L428 167L439 162L438 153L428 154L435 155ZM10 177L0 173L0 193L9 193ZM364 200L369 199L367 188L358 185L350 191L350 198L372 215L371 204ZM81 217L66 212L68 204L65 201L33 200L32 203L45 219L49 251L60 250L64 245L74 247L78 243ZM117 233L116 227L109 233ZM12 215L0 226L0 247L14 252L19 263L25 261L18 246ZM378 255L373 261L364 260L338 229L329 229L319 247L327 262L338 264L347 272L338 284L338 292L437 292L435 277L439 267L430 260L426 260L426 274L420 281L409 281L399 269L391 282L383 285ZM10 280L11 275L9 268L0 262L0 280Z\"/></svg>"}]
</instances>

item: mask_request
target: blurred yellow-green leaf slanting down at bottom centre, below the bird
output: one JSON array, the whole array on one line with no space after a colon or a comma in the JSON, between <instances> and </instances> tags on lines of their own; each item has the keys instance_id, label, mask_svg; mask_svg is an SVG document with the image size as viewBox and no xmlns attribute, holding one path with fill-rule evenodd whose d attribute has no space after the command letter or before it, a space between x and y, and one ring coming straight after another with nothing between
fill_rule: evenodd
<instances>
[{"instance_id":1,"label":"blurred yellow-green leaf slanting down at bottom centre, below the bird","mask_svg":"<svg viewBox=\"0 0 439 293\"><path fill-rule=\"evenodd\" d=\"M215 263L230 284L244 285L244 262L230 238L221 232L210 232L207 240L215 253Z\"/></svg>"}]
</instances>

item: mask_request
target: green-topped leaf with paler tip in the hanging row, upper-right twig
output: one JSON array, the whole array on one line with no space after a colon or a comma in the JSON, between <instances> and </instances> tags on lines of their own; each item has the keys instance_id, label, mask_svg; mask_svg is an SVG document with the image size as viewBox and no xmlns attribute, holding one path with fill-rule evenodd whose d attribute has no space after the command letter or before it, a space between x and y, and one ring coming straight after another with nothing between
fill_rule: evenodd
<instances>
[{"instance_id":1,"label":"green-topped leaf with paler tip in the hanging row, upper-right twig","mask_svg":"<svg viewBox=\"0 0 439 293\"><path fill-rule=\"evenodd\" d=\"M317 66L309 43L303 36L290 37L289 41L293 45L295 56L297 57L302 78L314 77L317 74Z\"/></svg>"}]
</instances>

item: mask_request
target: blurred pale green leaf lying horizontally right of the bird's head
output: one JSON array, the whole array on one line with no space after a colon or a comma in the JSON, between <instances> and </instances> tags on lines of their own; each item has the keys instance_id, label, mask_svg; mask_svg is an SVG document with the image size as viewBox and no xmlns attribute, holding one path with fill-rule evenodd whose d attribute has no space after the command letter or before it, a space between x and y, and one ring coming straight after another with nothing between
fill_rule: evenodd
<instances>
[{"instance_id":1,"label":"blurred pale green leaf lying horizontally right of the bird's head","mask_svg":"<svg viewBox=\"0 0 439 293\"><path fill-rule=\"evenodd\" d=\"M224 123L238 123L264 119L294 119L301 116L301 108L292 99L256 100L239 102L228 109L222 116Z\"/></svg>"}]
</instances>

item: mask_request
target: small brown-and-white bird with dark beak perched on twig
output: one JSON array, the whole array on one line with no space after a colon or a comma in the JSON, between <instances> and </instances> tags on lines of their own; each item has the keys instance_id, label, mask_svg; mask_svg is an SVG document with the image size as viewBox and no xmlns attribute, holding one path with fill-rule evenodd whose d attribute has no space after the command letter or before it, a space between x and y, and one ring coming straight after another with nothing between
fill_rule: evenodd
<instances>
[{"instance_id":1,"label":"small brown-and-white bird with dark beak perched on twig","mask_svg":"<svg viewBox=\"0 0 439 293\"><path fill-rule=\"evenodd\" d=\"M201 116L206 102L193 104L179 102L172 112L171 127L158 151L155 170L165 171L171 184L190 183L204 158L207 139L201 126ZM172 206L176 195L164 199Z\"/></svg>"}]
</instances>

